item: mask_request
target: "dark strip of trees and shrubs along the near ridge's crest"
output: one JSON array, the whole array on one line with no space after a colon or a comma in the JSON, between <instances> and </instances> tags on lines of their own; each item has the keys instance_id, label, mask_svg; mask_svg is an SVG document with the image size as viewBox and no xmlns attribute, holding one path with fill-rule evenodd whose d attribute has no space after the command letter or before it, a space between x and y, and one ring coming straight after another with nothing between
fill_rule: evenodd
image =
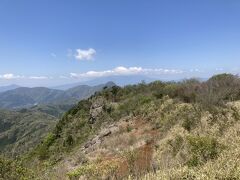
<instances>
[{"instance_id":1,"label":"dark strip of trees and shrubs along the near ridge's crest","mask_svg":"<svg viewBox=\"0 0 240 180\"><path fill-rule=\"evenodd\" d=\"M240 79L237 75L219 74L201 82L198 79L187 79L181 82L154 81L146 84L129 85L124 88L113 87L98 94L120 101L127 96L142 94L162 98L168 95L186 103L199 103L203 107L221 106L228 101L240 99Z\"/></svg>"}]
</instances>

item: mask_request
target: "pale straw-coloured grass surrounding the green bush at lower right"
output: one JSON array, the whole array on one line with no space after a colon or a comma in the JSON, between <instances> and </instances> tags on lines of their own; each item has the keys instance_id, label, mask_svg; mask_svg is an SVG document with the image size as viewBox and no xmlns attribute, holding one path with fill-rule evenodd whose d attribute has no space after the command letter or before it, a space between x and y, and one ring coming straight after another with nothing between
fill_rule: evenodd
<instances>
[{"instance_id":1,"label":"pale straw-coloured grass surrounding the green bush at lower right","mask_svg":"<svg viewBox=\"0 0 240 180\"><path fill-rule=\"evenodd\" d=\"M184 138L189 135L188 132L177 125L168 132L165 138L158 142L160 148L154 156L158 159L159 170L156 173L148 173L142 176L141 179L240 179L240 122L233 118L232 111L228 111L226 116L227 119L224 120L227 126L225 126L223 133L220 132L222 122L218 120L218 123L211 124L211 115L208 113L201 119L204 128L198 127L191 132L191 134L195 135L211 135L225 146L225 149L216 159L208 160L207 163L198 167L188 167L184 163L184 158L188 155L184 145L182 145L182 149L177 155L173 157L171 155L172 147L168 145L168 142L176 136ZM222 116L218 118L222 118ZM129 177L129 179L135 178Z\"/></svg>"}]
</instances>

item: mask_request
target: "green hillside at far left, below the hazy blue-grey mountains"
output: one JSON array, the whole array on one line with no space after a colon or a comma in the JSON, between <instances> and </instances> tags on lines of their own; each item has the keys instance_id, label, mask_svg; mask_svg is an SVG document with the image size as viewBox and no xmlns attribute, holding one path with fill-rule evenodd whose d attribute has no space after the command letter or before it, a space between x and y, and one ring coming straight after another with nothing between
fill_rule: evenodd
<instances>
[{"instance_id":1,"label":"green hillside at far left, below the hazy blue-grey mountains","mask_svg":"<svg viewBox=\"0 0 240 180\"><path fill-rule=\"evenodd\" d=\"M0 153L9 157L26 153L53 130L57 121L57 117L36 110L0 110Z\"/></svg>"}]
</instances>

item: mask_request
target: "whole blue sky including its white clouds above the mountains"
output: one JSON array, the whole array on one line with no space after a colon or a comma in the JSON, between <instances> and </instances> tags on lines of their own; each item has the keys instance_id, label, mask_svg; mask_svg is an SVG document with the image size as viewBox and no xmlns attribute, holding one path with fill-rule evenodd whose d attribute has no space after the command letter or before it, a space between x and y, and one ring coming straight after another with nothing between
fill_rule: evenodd
<instances>
[{"instance_id":1,"label":"whole blue sky including its white clouds above the mountains","mask_svg":"<svg viewBox=\"0 0 240 180\"><path fill-rule=\"evenodd\" d=\"M238 0L1 0L0 85L240 72Z\"/></svg>"}]
</instances>

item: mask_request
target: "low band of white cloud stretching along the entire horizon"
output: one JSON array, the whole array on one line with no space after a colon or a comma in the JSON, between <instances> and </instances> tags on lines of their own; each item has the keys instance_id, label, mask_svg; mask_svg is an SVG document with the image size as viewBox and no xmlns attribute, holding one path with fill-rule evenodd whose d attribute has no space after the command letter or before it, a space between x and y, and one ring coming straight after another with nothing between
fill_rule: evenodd
<instances>
[{"instance_id":1,"label":"low band of white cloud stretching along the entire horizon","mask_svg":"<svg viewBox=\"0 0 240 180\"><path fill-rule=\"evenodd\" d=\"M222 68L216 68L212 71L204 71L198 68L189 69L189 70L181 70L181 69L167 69L167 68L143 68L143 67L125 67L125 66L118 66L113 69L102 70L102 71L87 71L83 73L72 72L69 75L62 74L58 76L45 76L45 75L15 75L13 73L7 74L0 74L0 80L14 80L14 79L23 79L23 80L52 80L52 79L66 79L66 80L88 80L94 79L99 77L111 77L111 76L131 76L131 75L144 75L149 77L191 77L192 75L199 74L204 72L223 72ZM224 70L225 71L225 70ZM229 73L237 73L240 72L239 69L229 70L226 71Z\"/></svg>"}]
</instances>

